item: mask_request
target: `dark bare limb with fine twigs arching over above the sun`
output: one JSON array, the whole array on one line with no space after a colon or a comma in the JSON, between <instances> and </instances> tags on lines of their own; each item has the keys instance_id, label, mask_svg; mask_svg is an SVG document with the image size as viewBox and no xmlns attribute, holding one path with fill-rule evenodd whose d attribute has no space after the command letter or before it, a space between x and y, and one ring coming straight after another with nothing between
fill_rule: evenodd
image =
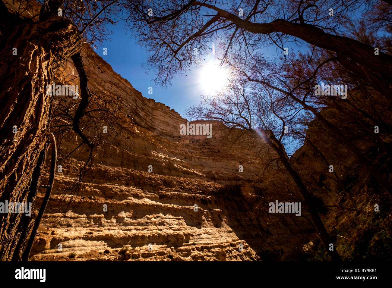
<instances>
[{"instance_id":1,"label":"dark bare limb with fine twigs arching over above the sun","mask_svg":"<svg viewBox=\"0 0 392 288\"><path fill-rule=\"evenodd\" d=\"M339 36L347 18L358 9L370 10L370 1L132 1L129 9L130 27L138 31L141 44L152 52L151 67L157 69L156 80L165 83L173 73L189 68L200 59L192 54L194 48L211 50L210 42L217 38L227 51L238 47L268 47L301 39L310 45L334 52L341 64L350 71L364 69L361 75L378 75L377 83L390 85L392 56L352 38ZM331 20L330 7L336 14ZM243 16L239 16L239 10ZM240 14L241 15L241 14ZM227 53L226 53L227 54ZM376 78L376 77L375 77Z\"/></svg>"}]
</instances>

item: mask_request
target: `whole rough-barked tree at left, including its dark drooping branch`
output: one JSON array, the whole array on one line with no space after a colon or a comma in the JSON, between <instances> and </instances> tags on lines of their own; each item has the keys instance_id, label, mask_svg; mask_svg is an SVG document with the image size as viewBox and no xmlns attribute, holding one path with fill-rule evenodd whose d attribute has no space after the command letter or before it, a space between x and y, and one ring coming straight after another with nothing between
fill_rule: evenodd
<instances>
[{"instance_id":1,"label":"whole rough-barked tree at left, including its dark drooping branch","mask_svg":"<svg viewBox=\"0 0 392 288\"><path fill-rule=\"evenodd\" d=\"M90 98L80 56L81 32L85 31L91 41L96 40L100 29L95 24L89 30L89 24L108 20L106 8L114 2L100 1L93 7L91 1L75 1L64 7L62 1L49 0L36 13L36 2L23 1L12 13L0 1L0 78L4 83L0 91L0 202L30 202L34 208L50 143L52 96L46 94L45 87L52 83L53 72L67 58L73 59L81 86L73 130L87 145L95 147L79 128ZM87 5L91 9L85 9ZM0 222L0 260L21 260L33 217L2 213Z\"/></svg>"}]
</instances>

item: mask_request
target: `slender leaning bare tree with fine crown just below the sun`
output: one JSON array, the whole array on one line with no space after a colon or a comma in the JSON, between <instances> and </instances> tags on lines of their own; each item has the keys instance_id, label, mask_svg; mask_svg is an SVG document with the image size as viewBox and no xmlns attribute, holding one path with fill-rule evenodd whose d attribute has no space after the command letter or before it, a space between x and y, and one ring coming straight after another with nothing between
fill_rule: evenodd
<instances>
[{"instance_id":1,"label":"slender leaning bare tree with fine crown just below the sun","mask_svg":"<svg viewBox=\"0 0 392 288\"><path fill-rule=\"evenodd\" d=\"M238 78L236 78L238 80ZM290 174L296 187L309 207L316 234L333 260L339 261L336 250L330 250L332 243L317 206L309 189L292 166L283 143L290 141L285 135L288 123L296 122L301 107L287 109L284 98L274 89L257 89L257 85L247 80L230 81L228 89L214 97L203 96L201 105L187 110L188 116L196 119L220 120L228 127L249 131L256 139L262 139L278 154L283 166ZM300 125L300 124L298 124Z\"/></svg>"}]
</instances>

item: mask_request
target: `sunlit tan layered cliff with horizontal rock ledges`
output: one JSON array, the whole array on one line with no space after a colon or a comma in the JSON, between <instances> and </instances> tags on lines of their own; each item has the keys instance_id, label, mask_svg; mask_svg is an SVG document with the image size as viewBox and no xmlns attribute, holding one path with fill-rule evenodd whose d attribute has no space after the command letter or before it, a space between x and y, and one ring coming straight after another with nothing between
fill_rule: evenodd
<instances>
[{"instance_id":1,"label":"sunlit tan layered cliff with horizontal rock ledges","mask_svg":"<svg viewBox=\"0 0 392 288\"><path fill-rule=\"evenodd\" d=\"M61 143L60 152L76 150L56 174L31 260L263 260L296 248L309 232L302 217L270 224L267 212L252 213L263 169L277 157L272 150L219 122L191 122L211 124L211 138L181 135L186 119L143 97L89 47L83 56L90 89L103 96L110 91L123 105L113 127L121 132L94 149L85 190L76 197L69 187L85 150L77 138ZM77 76L71 61L64 71ZM276 174L276 166L265 173ZM118 253L124 245L125 258Z\"/></svg>"}]
</instances>

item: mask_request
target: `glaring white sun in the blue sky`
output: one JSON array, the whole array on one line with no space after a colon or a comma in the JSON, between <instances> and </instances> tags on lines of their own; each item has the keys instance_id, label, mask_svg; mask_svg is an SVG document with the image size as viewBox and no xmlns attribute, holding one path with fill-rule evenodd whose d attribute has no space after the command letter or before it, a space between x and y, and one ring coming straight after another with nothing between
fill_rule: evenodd
<instances>
[{"instance_id":1,"label":"glaring white sun in the blue sky","mask_svg":"<svg viewBox=\"0 0 392 288\"><path fill-rule=\"evenodd\" d=\"M203 91L213 94L222 91L228 83L228 73L219 64L208 63L201 71L200 83Z\"/></svg>"}]
</instances>

